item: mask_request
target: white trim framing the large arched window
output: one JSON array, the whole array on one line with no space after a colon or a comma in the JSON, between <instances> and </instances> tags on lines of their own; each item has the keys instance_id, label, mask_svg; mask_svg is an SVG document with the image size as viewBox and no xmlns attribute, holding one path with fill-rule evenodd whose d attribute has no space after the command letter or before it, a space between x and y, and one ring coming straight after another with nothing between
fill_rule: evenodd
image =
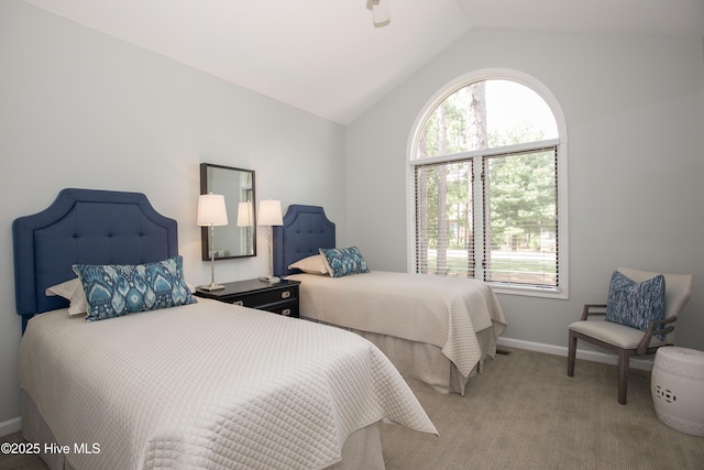
<instances>
[{"instance_id":1,"label":"white trim framing the large arched window","mask_svg":"<svg viewBox=\"0 0 704 470\"><path fill-rule=\"evenodd\" d=\"M560 286L556 289L549 288L540 288L540 287L530 287L530 286L507 286L505 284L490 283L494 292L498 294L510 294L510 295L524 295L524 296L535 296L535 297L546 297L546 298L559 298L559 299L568 299L569 298L569 285L570 285L570 247L569 247L569 210L568 210L568 132L566 132L566 123L564 120L564 114L562 112L562 108L558 103L557 98L552 92L546 87L542 83L537 80L535 77L527 75L522 72L513 70L508 68L486 68L482 70L472 72L465 75L462 75L452 81L442 86L422 107L414 124L411 127L408 142L406 145L406 221L407 221L407 263L406 270L408 272L414 272L414 266L416 265L416 194L415 186L413 184L414 181L414 168L418 164L417 161L414 160L414 155L416 155L416 143L418 142L418 135L420 130L428 119L430 113L436 109L436 107L442 102L446 98L452 95L454 91L460 88L481 80L492 80L492 79L506 79L513 80L518 84L525 85L526 87L536 91L550 107L552 114L554 116L556 123L558 125L558 135L557 140L558 145L560 146L560 151L558 152L558 204L562 207L562 211L560 212L560 218L558 221L558 230L560 231L560 245L558 255L560 258ZM556 141L546 141L546 143ZM503 147L501 150L506 151L518 150L519 145L512 145L510 147ZM496 151L496 152L495 152ZM499 149L490 150L491 153L499 153ZM464 160L472 154L486 154L486 151L482 152L463 152L458 155L452 155L448 157L444 155L443 157L429 157L424 159L422 163L432 163L433 161L451 161L451 160ZM483 247L481 247L483 250Z\"/></svg>"}]
</instances>

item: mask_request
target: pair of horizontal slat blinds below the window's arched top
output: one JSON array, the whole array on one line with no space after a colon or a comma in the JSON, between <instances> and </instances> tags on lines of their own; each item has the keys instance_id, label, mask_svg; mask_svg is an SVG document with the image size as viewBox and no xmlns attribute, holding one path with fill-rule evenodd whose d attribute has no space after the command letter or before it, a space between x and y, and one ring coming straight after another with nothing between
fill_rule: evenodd
<instances>
[{"instance_id":1,"label":"pair of horizontal slat blinds below the window's arched top","mask_svg":"<svg viewBox=\"0 0 704 470\"><path fill-rule=\"evenodd\" d=\"M414 168L416 272L559 286L557 145Z\"/></svg>"}]
</instances>

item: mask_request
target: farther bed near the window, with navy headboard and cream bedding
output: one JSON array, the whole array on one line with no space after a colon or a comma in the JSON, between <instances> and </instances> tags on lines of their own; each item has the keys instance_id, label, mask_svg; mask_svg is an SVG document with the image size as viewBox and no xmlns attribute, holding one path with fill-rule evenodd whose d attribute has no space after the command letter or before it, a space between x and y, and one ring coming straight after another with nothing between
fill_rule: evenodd
<instances>
[{"instance_id":1,"label":"farther bed near the window, with navy headboard and cream bedding","mask_svg":"<svg viewBox=\"0 0 704 470\"><path fill-rule=\"evenodd\" d=\"M331 277L317 260L320 248L334 247L334 223L321 207L292 205L275 227L275 274L301 282L301 318L350 329L374 342L405 378L464 394L506 329L491 286L381 271Z\"/></svg>"}]
</instances>

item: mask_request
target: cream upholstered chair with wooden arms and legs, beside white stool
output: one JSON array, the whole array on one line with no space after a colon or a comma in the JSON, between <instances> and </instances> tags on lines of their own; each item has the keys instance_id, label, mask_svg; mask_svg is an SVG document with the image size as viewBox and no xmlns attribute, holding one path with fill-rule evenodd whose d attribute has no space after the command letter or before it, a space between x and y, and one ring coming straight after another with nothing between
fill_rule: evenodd
<instances>
[{"instance_id":1,"label":"cream upholstered chair with wooden arms and legs, beside white stool","mask_svg":"<svg viewBox=\"0 0 704 470\"><path fill-rule=\"evenodd\" d=\"M619 267L618 271L637 283L660 274L628 267ZM618 354L618 403L626 404L630 357L652 354L661 346L673 345L674 321L692 295L692 286L694 285L694 276L692 274L662 274L664 276L666 292L664 319L650 321L646 331L613 321L605 321L606 305L587 304L584 306L581 320L570 325L569 376L574 376L578 339L608 349ZM656 330L658 326L662 326L662 329ZM660 335L666 335L664 341L658 338Z\"/></svg>"}]
</instances>

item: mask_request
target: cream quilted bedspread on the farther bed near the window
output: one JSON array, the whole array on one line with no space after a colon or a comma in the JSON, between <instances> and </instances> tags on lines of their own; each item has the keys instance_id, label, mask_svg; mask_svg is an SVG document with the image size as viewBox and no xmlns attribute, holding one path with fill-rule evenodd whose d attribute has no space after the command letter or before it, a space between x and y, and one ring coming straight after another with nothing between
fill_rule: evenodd
<instances>
[{"instance_id":1,"label":"cream quilted bedspread on the farther bed near the window","mask_svg":"<svg viewBox=\"0 0 704 470\"><path fill-rule=\"evenodd\" d=\"M477 280L383 271L288 278L301 281L301 316L436 345L465 378L482 358L476 332L506 329L496 294Z\"/></svg>"}]
</instances>

